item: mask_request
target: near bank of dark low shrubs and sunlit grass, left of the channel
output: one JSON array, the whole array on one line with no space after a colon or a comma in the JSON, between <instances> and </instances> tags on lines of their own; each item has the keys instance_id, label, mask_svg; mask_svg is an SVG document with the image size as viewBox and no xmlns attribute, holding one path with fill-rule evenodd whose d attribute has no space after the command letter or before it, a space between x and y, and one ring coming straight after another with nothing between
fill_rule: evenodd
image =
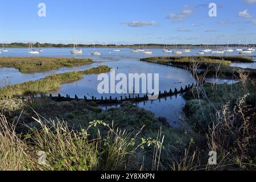
<instances>
[{"instance_id":1,"label":"near bank of dark low shrubs and sunlit grass, left of the channel","mask_svg":"<svg viewBox=\"0 0 256 182\"><path fill-rule=\"evenodd\" d=\"M47 98L0 105L4 170L163 170L191 142L189 130L172 129L129 102L107 111L93 102ZM46 164L38 163L39 151L46 152Z\"/></svg>"}]
</instances>

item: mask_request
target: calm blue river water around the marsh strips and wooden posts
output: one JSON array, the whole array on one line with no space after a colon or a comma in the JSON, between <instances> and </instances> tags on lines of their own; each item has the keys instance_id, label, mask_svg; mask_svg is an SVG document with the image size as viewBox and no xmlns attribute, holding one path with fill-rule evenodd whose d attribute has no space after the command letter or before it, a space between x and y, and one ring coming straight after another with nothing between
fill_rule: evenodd
<instances>
[{"instance_id":1,"label":"calm blue river water around the marsh strips and wooden posts","mask_svg":"<svg viewBox=\"0 0 256 182\"><path fill-rule=\"evenodd\" d=\"M10 48L8 50L9 52L2 52L0 56L31 56L28 55L27 49L24 48ZM82 50L82 55L71 55L69 53L69 51L71 51L70 48L44 48L44 52L41 52L39 55L32 56L86 57L93 59L93 64L73 68L60 68L36 73L20 73L18 69L15 68L0 68L0 87L8 84L38 80L48 75L52 75L53 73L57 74L85 70L88 68L97 67L98 65L108 65L109 67L115 69L115 75L118 73L124 73L127 77L129 73L158 73L159 90L162 92L164 90L174 90L174 88L180 89L181 86L184 88L185 85L192 84L193 82L191 74L183 69L139 61L139 59L142 57L172 56L172 53L163 53L162 49L150 49L152 54L144 55L143 53L130 52L131 49L129 48L120 48L120 52L113 52L113 48L96 48L96 51L102 53L100 56L89 55L90 52L94 51L92 48L82 48ZM183 56L197 55L197 52L199 51L199 49L191 50L192 51L190 53L183 53ZM229 55L235 55L236 53L237 52L233 52ZM255 53L253 53L251 56L255 56ZM255 63L233 64L233 66L255 68ZM107 74L110 77L110 73ZM69 94L71 97L74 97L76 94L79 98L83 98L84 96L87 98L92 96L97 98L100 98L101 96L104 98L109 96L112 96L112 98L119 98L121 95L123 97L127 96L127 94L100 94L97 91L97 85L99 82L100 81L97 80L97 75L85 75L81 80L63 84L59 90L51 93L55 96L58 93L64 96ZM175 126L176 121L179 121L179 119L183 117L182 108L184 104L185 101L183 97L177 96L161 98L160 100L155 101L140 102L137 105L153 111L156 117L165 117L172 126ZM108 109L109 106L103 107Z\"/></svg>"}]
</instances>

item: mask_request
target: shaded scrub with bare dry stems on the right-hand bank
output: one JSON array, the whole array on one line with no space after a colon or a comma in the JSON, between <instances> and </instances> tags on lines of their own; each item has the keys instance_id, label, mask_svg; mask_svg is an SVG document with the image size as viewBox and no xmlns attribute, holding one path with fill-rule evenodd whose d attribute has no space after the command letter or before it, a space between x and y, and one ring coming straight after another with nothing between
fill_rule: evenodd
<instances>
[{"instance_id":1,"label":"shaded scrub with bare dry stems on the right-hand bank","mask_svg":"<svg viewBox=\"0 0 256 182\"><path fill-rule=\"evenodd\" d=\"M200 77L196 68L193 70L195 78ZM205 151L217 152L217 165L201 169L255 170L255 80L242 69L237 73L240 82L232 85L205 84L204 77L196 79L196 87L185 96L188 102L184 111L200 135L194 144L200 146L199 158L206 156Z\"/></svg>"}]
</instances>

